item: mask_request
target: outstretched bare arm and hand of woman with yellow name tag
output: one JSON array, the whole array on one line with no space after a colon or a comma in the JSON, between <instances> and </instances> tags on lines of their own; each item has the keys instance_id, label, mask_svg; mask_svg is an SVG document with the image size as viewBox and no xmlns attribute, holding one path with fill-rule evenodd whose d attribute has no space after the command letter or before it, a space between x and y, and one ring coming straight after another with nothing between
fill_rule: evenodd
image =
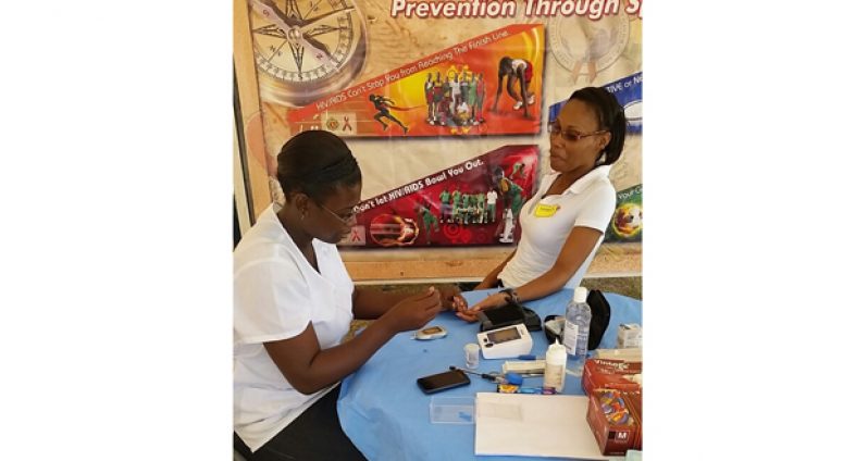
<instances>
[{"instance_id":1,"label":"outstretched bare arm and hand of woman with yellow name tag","mask_svg":"<svg viewBox=\"0 0 868 461\"><path fill-rule=\"evenodd\" d=\"M597 245L597 240L602 235L603 233L595 228L573 227L551 269L533 281L514 288L516 295L521 301L530 301L561 289L591 256L591 251L594 250L594 246ZM497 308L506 303L507 295L495 292L471 306L467 311L458 312L458 316L468 322L474 322L479 311Z\"/></svg>"}]
</instances>

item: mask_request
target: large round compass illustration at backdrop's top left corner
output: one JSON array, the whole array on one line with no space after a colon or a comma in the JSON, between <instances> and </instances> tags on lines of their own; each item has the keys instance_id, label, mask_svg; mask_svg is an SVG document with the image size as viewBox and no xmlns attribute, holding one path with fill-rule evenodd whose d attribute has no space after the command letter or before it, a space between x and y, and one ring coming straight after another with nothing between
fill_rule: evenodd
<instances>
[{"instance_id":1,"label":"large round compass illustration at backdrop's top left corner","mask_svg":"<svg viewBox=\"0 0 868 461\"><path fill-rule=\"evenodd\" d=\"M263 99L309 104L347 87L368 54L355 0L248 0Z\"/></svg>"}]
</instances>

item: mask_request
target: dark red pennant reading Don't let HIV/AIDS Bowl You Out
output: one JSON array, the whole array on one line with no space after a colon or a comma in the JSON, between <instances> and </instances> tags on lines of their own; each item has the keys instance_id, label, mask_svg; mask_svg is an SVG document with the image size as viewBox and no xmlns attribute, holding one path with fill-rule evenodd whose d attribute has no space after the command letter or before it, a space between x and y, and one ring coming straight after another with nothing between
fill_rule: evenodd
<instances>
[{"instance_id":1,"label":"dark red pennant reading Don't let HIV/AIDS Bowl You Out","mask_svg":"<svg viewBox=\"0 0 868 461\"><path fill-rule=\"evenodd\" d=\"M389 248L512 244L536 182L536 146L505 146L362 200L340 242Z\"/></svg>"}]
</instances>

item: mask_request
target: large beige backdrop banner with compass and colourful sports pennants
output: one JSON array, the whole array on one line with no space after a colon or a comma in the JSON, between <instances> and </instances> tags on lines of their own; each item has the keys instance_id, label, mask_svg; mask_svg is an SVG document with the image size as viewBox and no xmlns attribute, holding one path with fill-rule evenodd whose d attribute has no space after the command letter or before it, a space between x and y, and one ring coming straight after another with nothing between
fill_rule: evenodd
<instances>
[{"instance_id":1,"label":"large beige backdrop banner with compass and colourful sports pennants","mask_svg":"<svg viewBox=\"0 0 868 461\"><path fill-rule=\"evenodd\" d=\"M512 203L550 172L543 125L574 90L602 86L629 122L610 173L620 226L606 241L641 241L641 0L246 4L249 29L236 34L249 49L235 53L250 54L260 111L243 123L270 189L255 213L284 200L274 173L286 140L325 129L346 140L363 177L365 209L345 248L514 245ZM635 188L638 212L621 210Z\"/></svg>"}]
</instances>

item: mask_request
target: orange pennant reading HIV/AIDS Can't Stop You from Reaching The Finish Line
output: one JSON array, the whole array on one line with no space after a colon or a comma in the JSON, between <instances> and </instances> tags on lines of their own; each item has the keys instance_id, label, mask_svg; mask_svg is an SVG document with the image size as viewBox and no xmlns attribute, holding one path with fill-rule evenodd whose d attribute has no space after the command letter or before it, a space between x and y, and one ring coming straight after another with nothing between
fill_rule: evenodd
<instances>
[{"instance_id":1,"label":"orange pennant reading HIV/AIDS Can't Stop You from Reaching The Finish Line","mask_svg":"<svg viewBox=\"0 0 868 461\"><path fill-rule=\"evenodd\" d=\"M513 25L287 111L296 130L343 137L535 134L543 26Z\"/></svg>"}]
</instances>

